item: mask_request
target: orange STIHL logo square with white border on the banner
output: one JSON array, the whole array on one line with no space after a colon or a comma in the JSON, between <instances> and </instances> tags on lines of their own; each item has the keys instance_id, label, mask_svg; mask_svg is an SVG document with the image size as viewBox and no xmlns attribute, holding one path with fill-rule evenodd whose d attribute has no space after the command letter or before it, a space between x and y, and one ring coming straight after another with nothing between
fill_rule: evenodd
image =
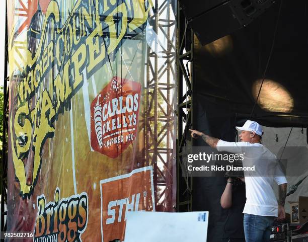
<instances>
[{"instance_id":1,"label":"orange STIHL logo square with white border on the banner","mask_svg":"<svg viewBox=\"0 0 308 242\"><path fill-rule=\"evenodd\" d=\"M128 211L155 211L152 167L100 181L102 242L124 240Z\"/></svg>"}]
</instances>

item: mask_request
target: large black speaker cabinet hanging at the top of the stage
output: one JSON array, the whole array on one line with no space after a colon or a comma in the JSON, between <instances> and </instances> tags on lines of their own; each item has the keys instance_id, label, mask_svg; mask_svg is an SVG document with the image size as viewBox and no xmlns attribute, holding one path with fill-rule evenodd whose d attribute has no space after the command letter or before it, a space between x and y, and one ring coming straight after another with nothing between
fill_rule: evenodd
<instances>
[{"instance_id":1,"label":"large black speaker cabinet hanging at the top of the stage","mask_svg":"<svg viewBox=\"0 0 308 242\"><path fill-rule=\"evenodd\" d=\"M274 0L179 0L188 23L202 45L250 24L271 7Z\"/></svg>"}]
</instances>

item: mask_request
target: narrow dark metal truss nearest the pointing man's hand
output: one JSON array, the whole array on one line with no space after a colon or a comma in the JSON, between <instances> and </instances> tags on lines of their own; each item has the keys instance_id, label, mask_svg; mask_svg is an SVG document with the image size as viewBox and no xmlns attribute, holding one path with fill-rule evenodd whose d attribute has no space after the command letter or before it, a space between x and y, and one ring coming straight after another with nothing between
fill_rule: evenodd
<instances>
[{"instance_id":1,"label":"narrow dark metal truss nearest the pointing man's hand","mask_svg":"<svg viewBox=\"0 0 308 242\"><path fill-rule=\"evenodd\" d=\"M183 159L192 151L189 128L193 122L193 31L188 26L178 4L177 50L177 211L192 211L193 178L185 176Z\"/></svg>"}]
</instances>

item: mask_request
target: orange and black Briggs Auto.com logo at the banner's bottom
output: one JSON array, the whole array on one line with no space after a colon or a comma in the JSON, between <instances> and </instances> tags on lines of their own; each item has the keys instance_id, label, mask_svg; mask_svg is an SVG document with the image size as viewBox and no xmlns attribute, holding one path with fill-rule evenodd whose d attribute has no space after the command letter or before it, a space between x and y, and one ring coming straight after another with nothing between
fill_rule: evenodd
<instances>
[{"instance_id":1,"label":"orange and black Briggs Auto.com logo at the banner's bottom","mask_svg":"<svg viewBox=\"0 0 308 242\"><path fill-rule=\"evenodd\" d=\"M88 223L88 194L83 192L60 199L60 189L54 201L46 204L44 195L37 198L34 241L80 242Z\"/></svg>"}]
</instances>

